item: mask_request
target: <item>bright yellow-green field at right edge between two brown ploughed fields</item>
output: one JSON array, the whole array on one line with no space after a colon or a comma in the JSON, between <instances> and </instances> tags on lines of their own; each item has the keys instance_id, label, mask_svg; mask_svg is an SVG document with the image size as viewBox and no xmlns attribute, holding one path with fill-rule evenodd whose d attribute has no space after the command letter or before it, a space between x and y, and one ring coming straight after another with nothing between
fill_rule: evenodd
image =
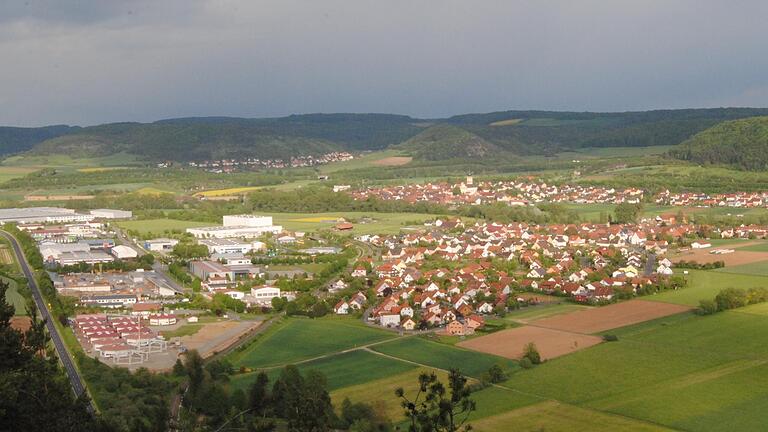
<instances>
[{"instance_id":1,"label":"bright yellow-green field at right edge between two brown ploughed fields","mask_svg":"<svg viewBox=\"0 0 768 432\"><path fill-rule=\"evenodd\" d=\"M726 267L728 271L738 269ZM682 269L676 269L676 274L682 274ZM720 270L688 270L685 275L688 286L677 291L666 291L661 294L643 297L643 300L661 301L687 306L698 306L699 300L714 298L721 289L727 287L753 288L768 286L768 277L747 274L731 274Z\"/></svg>"}]
</instances>

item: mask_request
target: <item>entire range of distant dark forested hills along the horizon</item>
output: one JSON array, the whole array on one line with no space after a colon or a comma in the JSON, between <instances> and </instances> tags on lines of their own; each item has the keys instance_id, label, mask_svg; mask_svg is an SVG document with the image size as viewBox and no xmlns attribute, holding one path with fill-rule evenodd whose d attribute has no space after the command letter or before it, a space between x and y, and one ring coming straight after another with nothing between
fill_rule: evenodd
<instances>
[{"instance_id":1,"label":"entire range of distant dark forested hills along the horizon","mask_svg":"<svg viewBox=\"0 0 768 432\"><path fill-rule=\"evenodd\" d=\"M73 156L126 152L151 161L186 161L287 158L396 147L416 159L429 160L494 152L549 155L584 147L677 145L723 121L755 116L768 116L768 109L503 111L430 120L389 114L195 117L83 128L0 128L0 154L27 150Z\"/></svg>"}]
</instances>

